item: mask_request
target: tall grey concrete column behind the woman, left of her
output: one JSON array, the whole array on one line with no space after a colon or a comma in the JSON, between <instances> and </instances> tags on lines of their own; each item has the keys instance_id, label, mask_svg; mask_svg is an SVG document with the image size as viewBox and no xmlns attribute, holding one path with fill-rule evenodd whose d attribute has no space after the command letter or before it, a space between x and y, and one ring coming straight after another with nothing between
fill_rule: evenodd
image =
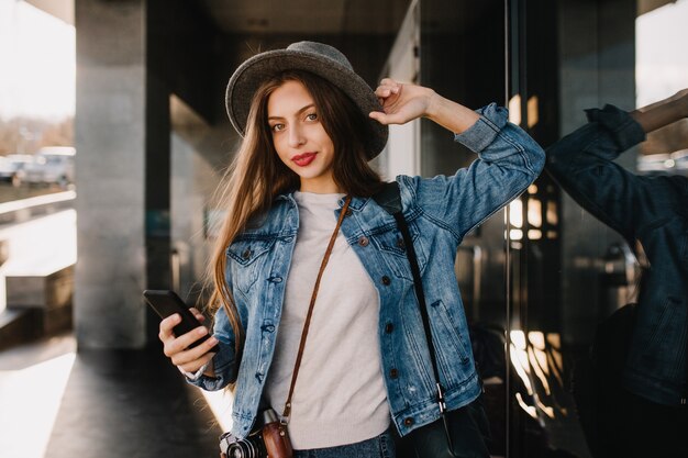
<instances>
[{"instance_id":1,"label":"tall grey concrete column behind the woman, left of her","mask_svg":"<svg viewBox=\"0 0 688 458\"><path fill-rule=\"evenodd\" d=\"M145 343L145 14L144 0L75 4L80 348Z\"/></svg>"}]
</instances>

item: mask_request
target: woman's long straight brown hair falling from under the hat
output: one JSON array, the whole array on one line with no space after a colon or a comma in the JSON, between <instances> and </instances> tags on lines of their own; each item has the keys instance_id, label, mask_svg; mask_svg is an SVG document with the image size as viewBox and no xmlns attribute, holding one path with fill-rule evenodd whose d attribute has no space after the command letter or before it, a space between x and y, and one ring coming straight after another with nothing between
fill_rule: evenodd
<instances>
[{"instance_id":1,"label":"woman's long straight brown hair falling from under the hat","mask_svg":"<svg viewBox=\"0 0 688 458\"><path fill-rule=\"evenodd\" d=\"M286 81L302 83L313 98L318 116L334 145L333 177L349 196L369 197L381 180L368 165L366 138L373 135L368 120L354 102L334 85L308 71L289 70L263 83L253 97L246 134L221 186L226 217L220 231L209 278L212 293L209 308L223 306L235 336L237 360L244 332L234 298L225 280L226 248L247 226L252 217L266 213L274 199L299 188L299 176L278 157L267 122L270 94Z\"/></svg>"}]
</instances>

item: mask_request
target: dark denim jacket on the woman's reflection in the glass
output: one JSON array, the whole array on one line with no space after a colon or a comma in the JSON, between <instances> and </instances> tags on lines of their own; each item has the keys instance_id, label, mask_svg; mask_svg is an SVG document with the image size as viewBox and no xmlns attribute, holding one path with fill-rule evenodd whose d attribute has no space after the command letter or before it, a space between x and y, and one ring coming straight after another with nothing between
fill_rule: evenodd
<instances>
[{"instance_id":1,"label":"dark denim jacket on the woman's reflection in the glass","mask_svg":"<svg viewBox=\"0 0 688 458\"><path fill-rule=\"evenodd\" d=\"M642 244L651 267L642 277L623 383L654 402L685 404L688 179L637 176L612 163L645 139L625 111L606 105L588 110L588 120L547 148L547 170L630 246Z\"/></svg>"}]
</instances>

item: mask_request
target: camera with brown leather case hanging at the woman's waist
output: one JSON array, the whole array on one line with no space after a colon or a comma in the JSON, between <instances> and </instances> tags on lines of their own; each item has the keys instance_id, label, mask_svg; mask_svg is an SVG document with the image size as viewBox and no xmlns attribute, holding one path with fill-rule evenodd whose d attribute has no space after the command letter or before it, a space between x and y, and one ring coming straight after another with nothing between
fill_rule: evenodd
<instances>
[{"instance_id":1,"label":"camera with brown leather case hanging at the woman's waist","mask_svg":"<svg viewBox=\"0 0 688 458\"><path fill-rule=\"evenodd\" d=\"M291 458L293 451L287 431L279 424L274 410L263 412L263 426L245 439L225 433L220 437L220 450L226 458Z\"/></svg>"}]
</instances>

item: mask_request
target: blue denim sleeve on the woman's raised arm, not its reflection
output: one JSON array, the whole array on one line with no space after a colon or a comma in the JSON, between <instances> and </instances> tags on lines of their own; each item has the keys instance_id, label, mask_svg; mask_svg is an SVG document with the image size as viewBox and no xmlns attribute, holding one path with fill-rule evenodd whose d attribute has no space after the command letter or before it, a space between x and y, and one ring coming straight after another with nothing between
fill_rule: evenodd
<instances>
[{"instance_id":1,"label":"blue denim sleeve on the woman's raised arm, not its reflection","mask_svg":"<svg viewBox=\"0 0 688 458\"><path fill-rule=\"evenodd\" d=\"M540 145L508 121L504 108L492 103L478 113L480 119L470 129L454 136L478 154L468 168L452 177L399 177L412 194L408 198L459 242L468 231L523 192L544 166Z\"/></svg>"}]
</instances>

